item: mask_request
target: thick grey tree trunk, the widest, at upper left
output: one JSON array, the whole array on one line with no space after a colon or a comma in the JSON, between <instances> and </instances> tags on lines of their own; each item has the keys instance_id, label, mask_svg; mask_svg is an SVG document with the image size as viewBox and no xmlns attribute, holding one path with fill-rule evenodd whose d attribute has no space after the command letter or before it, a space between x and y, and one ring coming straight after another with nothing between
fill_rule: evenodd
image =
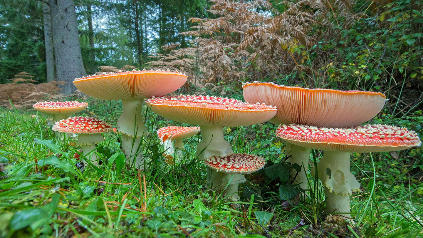
<instances>
[{"instance_id":1,"label":"thick grey tree trunk, the widest, at upper left","mask_svg":"<svg viewBox=\"0 0 423 238\"><path fill-rule=\"evenodd\" d=\"M75 91L72 81L87 73L82 62L74 0L49 0L56 63L56 80L65 81L62 93Z\"/></svg>"}]
</instances>

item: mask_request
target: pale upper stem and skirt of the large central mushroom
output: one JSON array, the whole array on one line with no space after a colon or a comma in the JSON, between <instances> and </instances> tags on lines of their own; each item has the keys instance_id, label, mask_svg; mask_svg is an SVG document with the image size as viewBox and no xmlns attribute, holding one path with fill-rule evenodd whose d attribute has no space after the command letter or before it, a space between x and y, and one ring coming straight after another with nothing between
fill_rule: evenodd
<instances>
[{"instance_id":1,"label":"pale upper stem and skirt of the large central mushroom","mask_svg":"<svg viewBox=\"0 0 423 238\"><path fill-rule=\"evenodd\" d=\"M223 137L222 126L202 126L201 129L201 141L197 145L197 157L200 160L217 155L223 156L229 153L233 153L231 144L225 141Z\"/></svg>"}]
</instances>

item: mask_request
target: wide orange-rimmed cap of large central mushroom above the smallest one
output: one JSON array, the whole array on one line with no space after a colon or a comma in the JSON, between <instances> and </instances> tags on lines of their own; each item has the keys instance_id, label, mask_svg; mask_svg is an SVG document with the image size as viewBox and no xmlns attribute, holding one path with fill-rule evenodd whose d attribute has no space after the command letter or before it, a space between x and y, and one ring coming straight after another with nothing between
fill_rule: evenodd
<instances>
[{"instance_id":1,"label":"wide orange-rimmed cap of large central mushroom above the smallest one","mask_svg":"<svg viewBox=\"0 0 423 238\"><path fill-rule=\"evenodd\" d=\"M151 111L176 122L205 126L247 126L266 122L277 109L231 98L179 95L145 101Z\"/></svg>"}]
</instances>

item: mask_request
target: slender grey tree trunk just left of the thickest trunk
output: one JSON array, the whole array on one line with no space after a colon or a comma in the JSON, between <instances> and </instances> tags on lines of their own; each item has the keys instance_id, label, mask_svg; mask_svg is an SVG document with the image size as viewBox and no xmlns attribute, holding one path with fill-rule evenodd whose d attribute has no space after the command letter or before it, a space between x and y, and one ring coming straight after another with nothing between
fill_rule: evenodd
<instances>
[{"instance_id":1,"label":"slender grey tree trunk just left of the thickest trunk","mask_svg":"<svg viewBox=\"0 0 423 238\"><path fill-rule=\"evenodd\" d=\"M52 22L50 17L50 7L47 3L43 3L44 16L44 44L46 46L46 67L47 67L47 82L54 81L54 51L53 51L53 37L52 37Z\"/></svg>"}]
</instances>

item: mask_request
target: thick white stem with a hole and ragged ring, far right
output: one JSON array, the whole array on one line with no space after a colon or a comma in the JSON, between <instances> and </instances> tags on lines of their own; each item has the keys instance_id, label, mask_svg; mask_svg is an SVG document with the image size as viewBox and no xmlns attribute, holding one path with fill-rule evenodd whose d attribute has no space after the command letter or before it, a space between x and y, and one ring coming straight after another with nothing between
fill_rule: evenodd
<instances>
[{"instance_id":1,"label":"thick white stem with a hole and ragged ring, far right","mask_svg":"<svg viewBox=\"0 0 423 238\"><path fill-rule=\"evenodd\" d=\"M349 196L354 191L360 191L360 183L349 170L351 153L337 151L323 153L323 158L317 163L317 172L325 187L327 212L343 213L343 216L351 217Z\"/></svg>"}]
</instances>

